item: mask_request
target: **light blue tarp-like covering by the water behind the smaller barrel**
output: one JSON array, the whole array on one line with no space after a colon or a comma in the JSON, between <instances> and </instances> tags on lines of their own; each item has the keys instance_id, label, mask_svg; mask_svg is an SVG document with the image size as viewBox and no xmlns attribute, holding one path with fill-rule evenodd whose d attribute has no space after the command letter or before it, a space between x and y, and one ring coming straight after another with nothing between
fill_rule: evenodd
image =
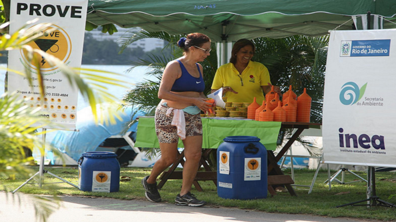
<instances>
[{"instance_id":1,"label":"light blue tarp-like covering by the water behind the smaller barrel","mask_svg":"<svg viewBox=\"0 0 396 222\"><path fill-rule=\"evenodd\" d=\"M58 131L51 140L51 146L59 149L61 152L65 152L72 159L78 161L78 158L84 152L94 151L105 139L110 136L120 135L131 119L135 120L137 116L144 116L143 112L138 111L131 118L131 115L134 113L131 108L118 110L117 107L114 107L109 114L105 115L106 118L109 119L110 115L114 115L115 112L122 120L116 119L116 124L111 125L110 123L106 124L109 121L103 121L103 124L95 124L90 107L78 111L76 115L76 129L79 131ZM128 132L136 132L136 130L137 123L133 124L128 129Z\"/></svg>"}]
</instances>

